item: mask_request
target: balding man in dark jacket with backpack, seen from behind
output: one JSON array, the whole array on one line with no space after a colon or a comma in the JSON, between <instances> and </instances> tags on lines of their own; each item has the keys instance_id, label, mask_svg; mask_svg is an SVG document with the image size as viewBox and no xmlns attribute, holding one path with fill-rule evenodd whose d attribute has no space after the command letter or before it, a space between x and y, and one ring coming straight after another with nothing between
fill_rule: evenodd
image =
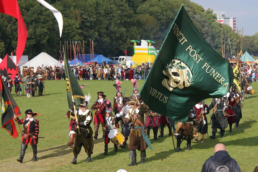
<instances>
[{"instance_id":1,"label":"balding man in dark jacket with backpack, seen from behind","mask_svg":"<svg viewBox=\"0 0 258 172\"><path fill-rule=\"evenodd\" d=\"M208 158L202 166L201 172L214 172L218 169L226 169L230 172L241 172L241 169L233 158L228 154L224 144L216 144L214 155Z\"/></svg>"}]
</instances>

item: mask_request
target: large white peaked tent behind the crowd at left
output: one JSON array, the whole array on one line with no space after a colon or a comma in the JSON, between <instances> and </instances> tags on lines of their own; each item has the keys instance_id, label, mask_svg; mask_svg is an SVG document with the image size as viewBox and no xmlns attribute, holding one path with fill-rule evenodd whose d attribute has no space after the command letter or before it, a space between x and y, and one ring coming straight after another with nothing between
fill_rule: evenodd
<instances>
[{"instance_id":1,"label":"large white peaked tent behind the crowd at left","mask_svg":"<svg viewBox=\"0 0 258 172\"><path fill-rule=\"evenodd\" d=\"M45 52L40 53L39 55L37 55L36 57L34 57L33 59L31 59L30 61L28 61L27 63L24 64L25 66L28 67L34 67L34 72L37 70L37 67L41 65L47 65L47 66L52 66L53 68L55 67L55 65L58 65L58 61L56 59L54 59L53 57L51 57L50 55L48 55ZM22 67L21 67L22 70Z\"/></svg>"}]
</instances>

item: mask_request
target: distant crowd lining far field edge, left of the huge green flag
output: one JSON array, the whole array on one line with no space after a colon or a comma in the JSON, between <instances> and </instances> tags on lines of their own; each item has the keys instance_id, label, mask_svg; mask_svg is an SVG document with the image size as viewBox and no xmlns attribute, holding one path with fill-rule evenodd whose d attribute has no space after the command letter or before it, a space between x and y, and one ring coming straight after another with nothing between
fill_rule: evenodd
<instances>
[{"instance_id":1,"label":"distant crowd lining far field edge, left of the huge green flag","mask_svg":"<svg viewBox=\"0 0 258 172\"><path fill-rule=\"evenodd\" d=\"M118 78L119 80L145 80L151 65L139 65L137 67L132 67L132 65L123 67L122 65L73 65L71 70L74 76L78 80L114 80ZM64 80L65 70L64 66L38 66L36 69L36 74L44 74L45 80ZM26 77L28 75L35 74L34 67L23 66L22 75Z\"/></svg>"}]
</instances>

